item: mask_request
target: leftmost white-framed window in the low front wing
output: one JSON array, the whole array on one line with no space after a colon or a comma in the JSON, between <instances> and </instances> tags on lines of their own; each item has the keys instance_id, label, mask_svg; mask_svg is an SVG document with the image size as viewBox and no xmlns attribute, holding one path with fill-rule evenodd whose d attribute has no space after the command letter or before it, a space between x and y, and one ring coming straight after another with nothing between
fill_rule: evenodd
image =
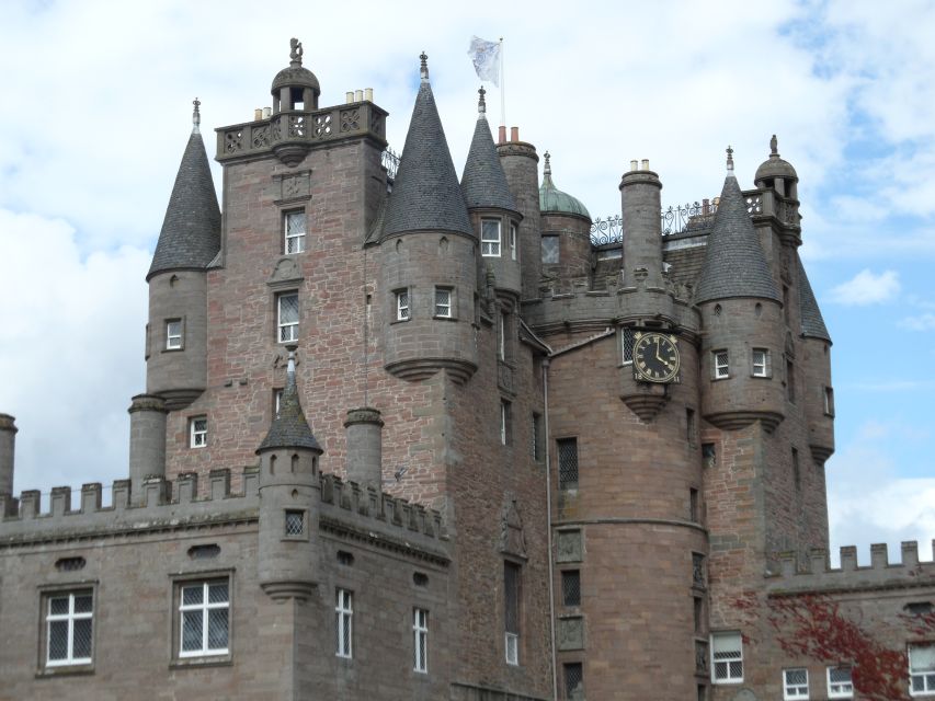
<instances>
[{"instance_id":1,"label":"leftmost white-framed window in the low front wing","mask_svg":"<svg viewBox=\"0 0 935 701\"><path fill-rule=\"evenodd\" d=\"M91 589L49 594L44 608L45 666L90 665L94 617Z\"/></svg>"}]
</instances>

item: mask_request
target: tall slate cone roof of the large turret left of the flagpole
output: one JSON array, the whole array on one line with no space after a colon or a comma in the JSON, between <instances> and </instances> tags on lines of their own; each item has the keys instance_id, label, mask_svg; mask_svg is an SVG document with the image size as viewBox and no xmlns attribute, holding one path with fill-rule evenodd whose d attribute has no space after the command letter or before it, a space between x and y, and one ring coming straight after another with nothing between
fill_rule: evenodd
<instances>
[{"instance_id":1,"label":"tall slate cone roof of the large turret left of the flagpole","mask_svg":"<svg viewBox=\"0 0 935 701\"><path fill-rule=\"evenodd\" d=\"M423 59L422 84L387 202L384 235L424 229L474 233Z\"/></svg>"}]
</instances>

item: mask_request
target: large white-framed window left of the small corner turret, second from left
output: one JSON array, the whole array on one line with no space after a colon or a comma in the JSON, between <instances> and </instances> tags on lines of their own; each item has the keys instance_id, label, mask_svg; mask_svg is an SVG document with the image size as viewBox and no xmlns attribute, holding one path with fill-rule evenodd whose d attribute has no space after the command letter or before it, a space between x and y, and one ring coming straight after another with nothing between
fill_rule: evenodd
<instances>
[{"instance_id":1,"label":"large white-framed window left of the small corner turret, second from left","mask_svg":"<svg viewBox=\"0 0 935 701\"><path fill-rule=\"evenodd\" d=\"M227 655L229 614L227 579L182 584L179 587L179 657Z\"/></svg>"}]
</instances>

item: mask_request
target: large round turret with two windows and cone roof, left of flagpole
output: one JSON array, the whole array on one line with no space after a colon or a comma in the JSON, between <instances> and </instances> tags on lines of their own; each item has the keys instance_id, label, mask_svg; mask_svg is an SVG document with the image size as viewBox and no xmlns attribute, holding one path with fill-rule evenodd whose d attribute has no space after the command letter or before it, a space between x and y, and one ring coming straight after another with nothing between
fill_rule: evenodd
<instances>
[{"instance_id":1,"label":"large round turret with two windows and cone roof, left of flagpole","mask_svg":"<svg viewBox=\"0 0 935 701\"><path fill-rule=\"evenodd\" d=\"M465 382L478 364L478 241L429 83L425 54L421 59L422 80L380 240L380 288L387 304L384 366L407 380L445 369Z\"/></svg>"}]
</instances>

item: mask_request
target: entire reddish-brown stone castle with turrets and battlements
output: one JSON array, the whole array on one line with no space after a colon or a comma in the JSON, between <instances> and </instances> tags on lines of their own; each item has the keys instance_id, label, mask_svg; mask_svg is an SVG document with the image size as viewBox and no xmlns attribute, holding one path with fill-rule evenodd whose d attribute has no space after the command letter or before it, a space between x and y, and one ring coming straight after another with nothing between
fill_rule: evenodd
<instances>
[{"instance_id":1,"label":"entire reddish-brown stone castle with turrets and battlements","mask_svg":"<svg viewBox=\"0 0 935 701\"><path fill-rule=\"evenodd\" d=\"M935 694L935 564L829 566L831 338L775 137L679 227L631 161L602 237L482 91L458 177L424 55L398 162L301 62L216 130L220 206L195 103L111 503L13 497L0 415L0 698L878 698L777 602Z\"/></svg>"}]
</instances>

